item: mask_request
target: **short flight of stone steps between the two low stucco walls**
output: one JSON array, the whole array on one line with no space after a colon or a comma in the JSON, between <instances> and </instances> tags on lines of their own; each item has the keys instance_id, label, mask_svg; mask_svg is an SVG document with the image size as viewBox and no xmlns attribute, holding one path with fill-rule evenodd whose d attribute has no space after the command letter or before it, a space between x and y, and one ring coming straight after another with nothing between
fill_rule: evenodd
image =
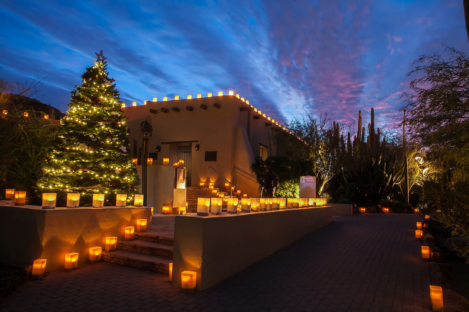
<instances>
[{"instance_id":1,"label":"short flight of stone steps between the two low stucco walls","mask_svg":"<svg viewBox=\"0 0 469 312\"><path fill-rule=\"evenodd\" d=\"M119 240L116 250L102 252L101 260L168 274L169 263L173 262L174 238L158 232L151 229L135 233L133 240Z\"/></svg>"}]
</instances>

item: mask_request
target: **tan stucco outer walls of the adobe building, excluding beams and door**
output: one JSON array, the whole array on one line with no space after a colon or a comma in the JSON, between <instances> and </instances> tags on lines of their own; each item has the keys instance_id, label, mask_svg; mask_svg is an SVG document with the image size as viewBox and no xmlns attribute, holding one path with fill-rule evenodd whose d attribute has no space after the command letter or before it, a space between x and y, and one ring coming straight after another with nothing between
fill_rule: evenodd
<instances>
[{"instance_id":1,"label":"tan stucco outer walls of the adobe building, excluding beams and door","mask_svg":"<svg viewBox=\"0 0 469 312\"><path fill-rule=\"evenodd\" d=\"M217 109L213 103L218 103L221 107ZM201 104L206 105L207 109L201 109ZM186 106L192 107L193 111L187 110ZM180 111L173 111L173 107ZM163 113L162 108L169 111ZM241 111L240 108L247 110ZM207 169L207 166L214 167L231 182L235 182L234 168L241 168L244 174L250 176L250 179L240 178L236 181L238 189L248 196L256 196L258 189L255 184L256 178L250 173L249 166L254 161L254 157L260 155L260 144L268 147L269 156L278 155L280 150L285 150L284 140L281 139L282 136L288 135L285 131L280 130L279 126L266 126L269 121L265 117L254 119L258 113L254 112L249 105L235 96L225 95L190 100L147 102L147 105L124 108L124 114L129 117L131 151L134 150L134 139L137 153L142 145L140 123L155 116L149 113L149 109L158 111L157 117L151 121L155 132L149 141L149 152L156 152L157 146L161 148L158 152L158 160L153 160L153 164L160 165L163 158L168 157L170 164L177 162L176 145L190 145L191 186L198 186L200 181L207 181L210 178L211 182L215 182L215 187L223 187L225 181L214 171ZM238 128L244 130L248 144L240 141ZM167 142L178 143L164 144ZM195 150L195 145L199 145L199 151ZM217 161L205 161L206 151L216 151Z\"/></svg>"}]
</instances>

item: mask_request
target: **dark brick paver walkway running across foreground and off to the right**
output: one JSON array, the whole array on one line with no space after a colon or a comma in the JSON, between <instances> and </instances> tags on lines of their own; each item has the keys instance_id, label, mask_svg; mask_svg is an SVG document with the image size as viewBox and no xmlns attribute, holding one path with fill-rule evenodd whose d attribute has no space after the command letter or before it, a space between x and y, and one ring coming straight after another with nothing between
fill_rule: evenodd
<instances>
[{"instance_id":1,"label":"dark brick paver walkway running across foreground and off to the right","mask_svg":"<svg viewBox=\"0 0 469 312\"><path fill-rule=\"evenodd\" d=\"M270 257L194 294L167 277L100 262L53 271L6 311L430 311L428 263L409 214L334 218ZM253 238L255 239L255 238Z\"/></svg>"}]
</instances>

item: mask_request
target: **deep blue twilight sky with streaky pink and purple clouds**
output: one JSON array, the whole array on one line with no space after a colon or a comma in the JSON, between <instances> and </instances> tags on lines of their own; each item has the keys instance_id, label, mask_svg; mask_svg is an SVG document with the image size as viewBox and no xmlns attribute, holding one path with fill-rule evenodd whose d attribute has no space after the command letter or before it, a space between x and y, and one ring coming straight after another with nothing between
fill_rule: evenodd
<instances>
[{"instance_id":1,"label":"deep blue twilight sky with streaky pink and purple clouds","mask_svg":"<svg viewBox=\"0 0 469 312\"><path fill-rule=\"evenodd\" d=\"M412 62L469 51L461 0L1 1L0 79L47 76L65 111L103 50L121 100L228 90L274 119L400 115Z\"/></svg>"}]
</instances>

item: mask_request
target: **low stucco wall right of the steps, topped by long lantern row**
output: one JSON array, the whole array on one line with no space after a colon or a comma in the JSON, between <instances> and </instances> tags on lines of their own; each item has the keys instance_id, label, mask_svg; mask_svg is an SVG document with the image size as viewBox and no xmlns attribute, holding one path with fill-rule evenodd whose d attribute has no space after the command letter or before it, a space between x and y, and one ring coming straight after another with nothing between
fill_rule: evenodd
<instances>
[{"instance_id":1,"label":"low stucco wall right of the steps, topped by long lantern row","mask_svg":"<svg viewBox=\"0 0 469 312\"><path fill-rule=\"evenodd\" d=\"M207 289L332 220L328 206L176 216L173 285L189 270L197 272L197 290Z\"/></svg>"}]
</instances>

